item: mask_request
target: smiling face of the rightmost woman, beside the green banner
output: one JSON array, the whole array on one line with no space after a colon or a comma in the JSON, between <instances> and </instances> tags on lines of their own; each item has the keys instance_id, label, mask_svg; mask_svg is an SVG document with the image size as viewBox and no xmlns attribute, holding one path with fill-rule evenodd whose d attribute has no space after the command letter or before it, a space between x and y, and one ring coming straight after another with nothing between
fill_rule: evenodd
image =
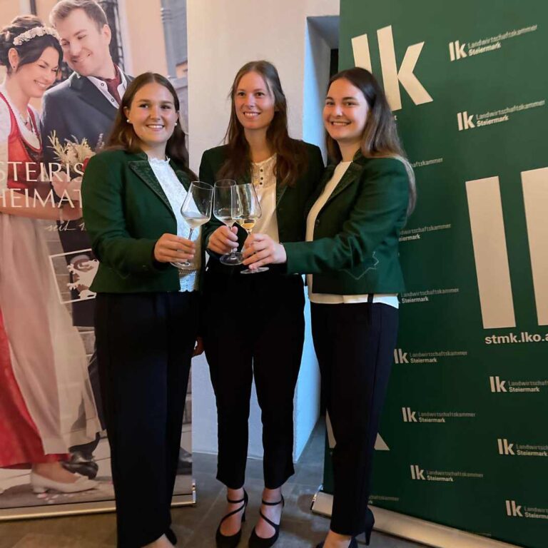
<instances>
[{"instance_id":1,"label":"smiling face of the rightmost woman, beside the green banner","mask_svg":"<svg viewBox=\"0 0 548 548\"><path fill-rule=\"evenodd\" d=\"M362 91L345 78L335 80L329 86L323 123L339 146L355 145L356 151L360 148L368 112L369 105Z\"/></svg>"}]
</instances>

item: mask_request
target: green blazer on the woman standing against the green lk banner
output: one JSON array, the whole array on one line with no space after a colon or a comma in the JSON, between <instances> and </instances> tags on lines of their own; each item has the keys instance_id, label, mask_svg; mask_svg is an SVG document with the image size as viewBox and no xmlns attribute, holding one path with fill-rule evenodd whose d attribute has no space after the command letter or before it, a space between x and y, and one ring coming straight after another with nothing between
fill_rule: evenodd
<instances>
[{"instance_id":1,"label":"green blazer on the woman standing against the green lk banner","mask_svg":"<svg viewBox=\"0 0 548 548\"><path fill-rule=\"evenodd\" d=\"M308 210L333 176L323 181ZM318 213L312 242L283 242L288 273L313 274L314 293L363 295L405 290L398 253L409 176L397 158L357 153Z\"/></svg>"}]
</instances>

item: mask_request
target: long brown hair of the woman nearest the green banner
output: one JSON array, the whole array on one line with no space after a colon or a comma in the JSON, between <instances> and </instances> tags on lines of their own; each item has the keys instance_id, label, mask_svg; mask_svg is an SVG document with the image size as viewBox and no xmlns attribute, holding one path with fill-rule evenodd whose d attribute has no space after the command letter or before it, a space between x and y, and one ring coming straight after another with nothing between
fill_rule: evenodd
<instances>
[{"instance_id":1,"label":"long brown hair of the woman nearest the green banner","mask_svg":"<svg viewBox=\"0 0 548 548\"><path fill-rule=\"evenodd\" d=\"M410 215L415 209L417 201L417 188L415 186L415 173L407 160L405 151L400 143L400 137L397 135L396 123L392 110L388 105L385 92L382 91L375 76L366 71L365 68L354 67L340 71L330 78L328 92L331 84L344 79L349 81L352 86L358 88L367 101L369 112L362 133L360 151L366 158L397 158L402 161L409 176L409 202L407 204L407 215ZM337 141L325 133L325 141L328 146L328 154L335 161L342 160L342 154Z\"/></svg>"}]
</instances>

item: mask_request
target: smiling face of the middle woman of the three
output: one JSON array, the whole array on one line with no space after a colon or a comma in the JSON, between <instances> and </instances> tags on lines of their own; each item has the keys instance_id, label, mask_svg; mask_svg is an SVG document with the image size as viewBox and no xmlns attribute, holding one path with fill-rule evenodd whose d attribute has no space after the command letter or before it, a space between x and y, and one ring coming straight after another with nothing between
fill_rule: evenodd
<instances>
[{"instance_id":1,"label":"smiling face of the middle woman of the three","mask_svg":"<svg viewBox=\"0 0 548 548\"><path fill-rule=\"evenodd\" d=\"M234 109L244 131L266 131L275 114L270 87L257 72L245 73L236 86Z\"/></svg>"}]
</instances>

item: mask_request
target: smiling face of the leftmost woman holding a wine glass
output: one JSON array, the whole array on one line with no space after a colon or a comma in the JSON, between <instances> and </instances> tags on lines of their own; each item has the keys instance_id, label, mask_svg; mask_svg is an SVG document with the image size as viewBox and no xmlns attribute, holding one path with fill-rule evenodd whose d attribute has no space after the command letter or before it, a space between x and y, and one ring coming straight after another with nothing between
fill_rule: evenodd
<instances>
[{"instance_id":1,"label":"smiling face of the leftmost woman holding a wine glass","mask_svg":"<svg viewBox=\"0 0 548 548\"><path fill-rule=\"evenodd\" d=\"M142 150L163 157L178 118L171 91L160 83L146 83L136 91L124 113L141 141Z\"/></svg>"}]
</instances>

